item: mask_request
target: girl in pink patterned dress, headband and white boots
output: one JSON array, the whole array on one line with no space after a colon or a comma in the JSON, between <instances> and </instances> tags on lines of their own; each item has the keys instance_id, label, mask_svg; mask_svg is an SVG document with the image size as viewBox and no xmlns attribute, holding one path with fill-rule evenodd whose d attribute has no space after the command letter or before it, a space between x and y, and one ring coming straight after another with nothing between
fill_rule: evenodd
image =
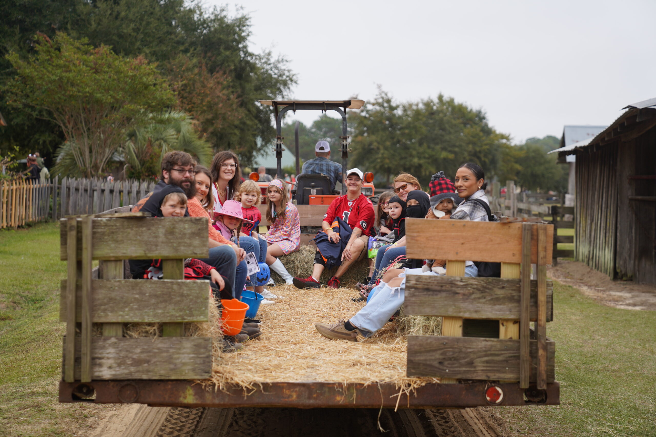
<instances>
[{"instance_id":1,"label":"girl in pink patterned dress, headband and white boots","mask_svg":"<svg viewBox=\"0 0 656 437\"><path fill-rule=\"evenodd\" d=\"M274 179L266 189L266 195L269 199L268 208L266 208L266 219L272 225L264 238L268 243L266 263L287 284L293 284L293 277L289 275L283 263L277 259L278 256L296 252L300 246L298 210L296 206L288 202L289 193L286 185L285 181Z\"/></svg>"}]
</instances>

